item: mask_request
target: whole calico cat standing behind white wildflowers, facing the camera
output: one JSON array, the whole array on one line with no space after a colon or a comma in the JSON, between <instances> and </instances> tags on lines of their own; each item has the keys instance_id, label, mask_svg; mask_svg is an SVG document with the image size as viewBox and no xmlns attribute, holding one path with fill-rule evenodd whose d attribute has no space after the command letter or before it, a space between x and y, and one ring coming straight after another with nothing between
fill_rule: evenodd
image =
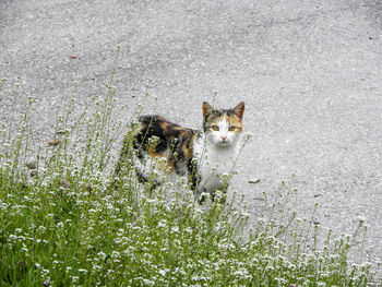
<instances>
[{"instance_id":1,"label":"whole calico cat standing behind white wildflowers, facing the camera","mask_svg":"<svg viewBox=\"0 0 382 287\"><path fill-rule=\"evenodd\" d=\"M147 167L153 160L163 163L167 172L187 176L199 203L204 193L214 201L216 190L226 191L238 157L243 112L242 101L231 109L214 109L204 101L202 130L183 128L162 116L142 116L124 137L116 172L133 164L140 180L147 182L152 171Z\"/></svg>"}]
</instances>

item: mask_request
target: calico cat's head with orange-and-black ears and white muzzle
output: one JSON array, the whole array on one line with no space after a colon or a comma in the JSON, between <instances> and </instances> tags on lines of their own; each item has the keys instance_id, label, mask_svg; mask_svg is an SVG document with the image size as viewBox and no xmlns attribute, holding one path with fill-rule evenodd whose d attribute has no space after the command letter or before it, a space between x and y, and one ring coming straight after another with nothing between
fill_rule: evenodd
<instances>
[{"instance_id":1,"label":"calico cat's head with orange-and-black ears and white muzzle","mask_svg":"<svg viewBox=\"0 0 382 287\"><path fill-rule=\"evenodd\" d=\"M204 101L203 129L206 139L218 146L235 144L242 132L243 112L243 101L231 109L214 109L208 103Z\"/></svg>"}]
</instances>

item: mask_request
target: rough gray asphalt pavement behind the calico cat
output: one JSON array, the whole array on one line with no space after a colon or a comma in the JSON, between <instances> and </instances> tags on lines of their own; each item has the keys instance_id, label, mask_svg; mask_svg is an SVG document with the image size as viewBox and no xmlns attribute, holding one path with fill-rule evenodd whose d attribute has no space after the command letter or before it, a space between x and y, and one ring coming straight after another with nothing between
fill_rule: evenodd
<instances>
[{"instance_id":1,"label":"rough gray asphalt pavement behind the calico cat","mask_svg":"<svg viewBox=\"0 0 382 287\"><path fill-rule=\"evenodd\" d=\"M300 217L318 202L324 228L351 234L365 219L382 259L381 1L0 2L0 120L20 83L20 103L36 103L36 144L51 136L53 107L105 95L115 65L123 120L145 93L157 97L148 110L192 128L215 93L220 107L244 100L254 136L231 191L250 213L295 175Z\"/></svg>"}]
</instances>

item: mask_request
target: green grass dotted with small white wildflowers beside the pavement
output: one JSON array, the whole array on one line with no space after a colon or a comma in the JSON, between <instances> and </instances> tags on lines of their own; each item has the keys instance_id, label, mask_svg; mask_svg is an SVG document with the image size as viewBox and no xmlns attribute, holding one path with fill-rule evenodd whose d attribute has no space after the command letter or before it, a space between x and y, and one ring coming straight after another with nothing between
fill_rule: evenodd
<instances>
[{"instance_id":1,"label":"green grass dotted with small white wildflowers beside the pavement","mask_svg":"<svg viewBox=\"0 0 382 287\"><path fill-rule=\"evenodd\" d=\"M1 286L375 285L375 266L350 263L351 237L330 232L319 244L314 214L287 211L286 183L249 236L242 199L195 207L182 179L152 191L131 172L111 189L126 125L112 117L115 91L79 118L70 105L47 156L29 151L32 99L15 110L19 127L2 129Z\"/></svg>"}]
</instances>

